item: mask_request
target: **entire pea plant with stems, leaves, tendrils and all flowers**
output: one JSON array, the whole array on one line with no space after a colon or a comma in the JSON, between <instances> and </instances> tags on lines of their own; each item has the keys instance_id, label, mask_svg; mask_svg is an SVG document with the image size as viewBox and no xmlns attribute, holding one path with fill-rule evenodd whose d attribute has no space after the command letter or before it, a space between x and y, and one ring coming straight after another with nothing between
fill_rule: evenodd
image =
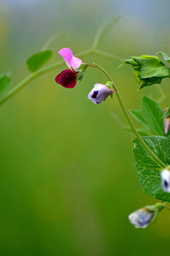
<instances>
[{"instance_id":1,"label":"entire pea plant with stems, leaves, tendrils and all flowers","mask_svg":"<svg viewBox=\"0 0 170 256\"><path fill-rule=\"evenodd\" d=\"M9 89L11 78L8 74L0 76L0 105L4 104L6 100L10 99L31 80L50 70L59 68L64 63L67 64L68 68L62 70L54 79L58 85L62 85L62 87L68 89L76 87L77 82L81 82L84 78L86 68L97 68L103 72L106 75L106 83L104 85L100 82L96 83L91 92L89 92L88 98L97 105L104 102L108 96L111 96L113 99L113 95L116 95L120 107L125 114L125 118L128 121L128 130L135 134L135 139L133 139L133 155L135 158L137 178L140 181L144 193L147 193L150 197L155 196L160 201L160 203L152 206L145 206L139 210L135 210L129 215L130 223L135 225L135 228L146 228L149 223L157 220L157 216L161 210L164 208L169 209L166 206L166 202L170 203L170 107L167 106L165 110L162 110L156 101L149 97L142 97L141 110L131 110L129 114L111 75L100 65L86 63L80 58L96 54L120 61L120 66L130 65L137 80L138 90L141 90L150 85L161 84L164 78L170 78L170 57L166 53L159 52L157 55L141 55L123 59L111 53L98 50L98 44L101 38L103 38L108 29L119 18L120 16L109 18L102 23L96 32L91 49L85 50L74 57L70 48L62 48L58 53L63 60L42 68L42 65L47 63L52 57L52 50L47 49L54 40L54 37L50 38L39 53L31 55L26 60L30 74L21 80L21 82L18 82L17 85ZM63 88L63 90L65 89ZM142 124L142 129L135 127L130 115Z\"/></svg>"}]
</instances>

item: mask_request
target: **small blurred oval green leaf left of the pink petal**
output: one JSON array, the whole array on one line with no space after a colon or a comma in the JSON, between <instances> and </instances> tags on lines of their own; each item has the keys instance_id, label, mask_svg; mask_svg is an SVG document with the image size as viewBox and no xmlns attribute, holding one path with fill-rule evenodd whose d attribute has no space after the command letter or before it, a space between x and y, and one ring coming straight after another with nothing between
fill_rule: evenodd
<instances>
[{"instance_id":1,"label":"small blurred oval green leaf left of the pink petal","mask_svg":"<svg viewBox=\"0 0 170 256\"><path fill-rule=\"evenodd\" d=\"M30 72L35 72L42 65L44 65L52 57L52 50L43 50L39 53L35 53L28 58L26 65Z\"/></svg>"}]
</instances>

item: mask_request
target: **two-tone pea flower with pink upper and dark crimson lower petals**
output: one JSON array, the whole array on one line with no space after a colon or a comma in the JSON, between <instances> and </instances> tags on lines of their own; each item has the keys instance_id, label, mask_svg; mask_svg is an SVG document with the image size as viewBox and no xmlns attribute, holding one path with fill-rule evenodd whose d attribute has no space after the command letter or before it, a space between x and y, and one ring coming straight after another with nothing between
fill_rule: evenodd
<instances>
[{"instance_id":1,"label":"two-tone pea flower with pink upper and dark crimson lower petals","mask_svg":"<svg viewBox=\"0 0 170 256\"><path fill-rule=\"evenodd\" d=\"M77 75L79 75L77 68L81 65L82 60L74 57L72 50L69 48L62 48L58 53L62 56L69 69L63 70L57 75L55 82L66 88L74 88L77 84Z\"/></svg>"}]
</instances>

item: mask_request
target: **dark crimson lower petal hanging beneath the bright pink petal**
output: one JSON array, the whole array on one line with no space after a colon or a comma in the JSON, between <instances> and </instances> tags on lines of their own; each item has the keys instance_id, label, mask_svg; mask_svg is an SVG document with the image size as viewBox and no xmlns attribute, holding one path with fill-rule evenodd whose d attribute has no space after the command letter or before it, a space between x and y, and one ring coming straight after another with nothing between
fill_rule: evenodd
<instances>
[{"instance_id":1,"label":"dark crimson lower petal hanging beneath the bright pink petal","mask_svg":"<svg viewBox=\"0 0 170 256\"><path fill-rule=\"evenodd\" d=\"M66 88L74 88L77 84L77 73L72 72L72 70L63 70L55 78L55 82Z\"/></svg>"}]
</instances>

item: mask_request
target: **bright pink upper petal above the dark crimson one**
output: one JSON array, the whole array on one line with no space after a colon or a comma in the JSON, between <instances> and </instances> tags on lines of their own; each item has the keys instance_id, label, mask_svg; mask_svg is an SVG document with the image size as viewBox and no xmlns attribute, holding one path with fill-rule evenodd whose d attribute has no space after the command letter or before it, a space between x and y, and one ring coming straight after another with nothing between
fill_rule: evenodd
<instances>
[{"instance_id":1,"label":"bright pink upper petal above the dark crimson one","mask_svg":"<svg viewBox=\"0 0 170 256\"><path fill-rule=\"evenodd\" d=\"M82 60L74 57L72 50L69 48L62 48L58 53L62 56L67 66L75 71L82 63Z\"/></svg>"}]
</instances>

